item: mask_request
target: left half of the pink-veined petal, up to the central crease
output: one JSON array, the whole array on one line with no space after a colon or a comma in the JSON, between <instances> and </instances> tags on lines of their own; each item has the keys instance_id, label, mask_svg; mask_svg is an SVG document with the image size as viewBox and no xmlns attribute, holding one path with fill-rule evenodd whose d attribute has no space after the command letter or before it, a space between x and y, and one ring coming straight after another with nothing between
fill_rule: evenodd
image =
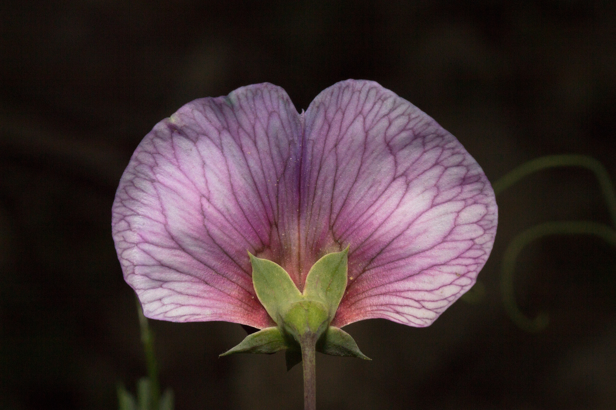
<instances>
[{"instance_id":1,"label":"left half of the pink-veined petal, up to the central crease","mask_svg":"<svg viewBox=\"0 0 616 410\"><path fill-rule=\"evenodd\" d=\"M274 325L246 251L298 280L301 117L272 84L203 98L158 123L113 203L113 239L147 317Z\"/></svg>"}]
</instances>

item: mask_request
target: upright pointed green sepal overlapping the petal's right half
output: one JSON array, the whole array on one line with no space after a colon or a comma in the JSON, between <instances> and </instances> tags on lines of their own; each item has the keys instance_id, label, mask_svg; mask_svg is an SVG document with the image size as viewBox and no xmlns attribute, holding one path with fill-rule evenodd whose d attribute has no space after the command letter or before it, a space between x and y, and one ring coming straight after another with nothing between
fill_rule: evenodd
<instances>
[{"instance_id":1,"label":"upright pointed green sepal overlapping the petal's right half","mask_svg":"<svg viewBox=\"0 0 616 410\"><path fill-rule=\"evenodd\" d=\"M346 289L348 254L349 246L341 252L326 254L312 265L306 277L304 298L328 306L330 320L336 314Z\"/></svg>"}]
</instances>

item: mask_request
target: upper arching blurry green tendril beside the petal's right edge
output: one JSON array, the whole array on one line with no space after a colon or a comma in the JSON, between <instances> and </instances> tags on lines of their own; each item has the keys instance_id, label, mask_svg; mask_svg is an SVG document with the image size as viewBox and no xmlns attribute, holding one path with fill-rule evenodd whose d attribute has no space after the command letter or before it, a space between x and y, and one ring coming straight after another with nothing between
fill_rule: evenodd
<instances>
[{"instance_id":1,"label":"upper arching blurry green tendril beside the petal's right edge","mask_svg":"<svg viewBox=\"0 0 616 410\"><path fill-rule=\"evenodd\" d=\"M593 171L594 176L596 176L601 186L601 192L606 200L612 223L616 226L616 193L614 191L614 185L612 184L606 168L593 157L578 154L562 154L533 159L532 161L520 165L503 176L503 178L498 179L492 186L494 194L500 194L525 176L546 168L554 167L582 167Z\"/></svg>"}]
</instances>

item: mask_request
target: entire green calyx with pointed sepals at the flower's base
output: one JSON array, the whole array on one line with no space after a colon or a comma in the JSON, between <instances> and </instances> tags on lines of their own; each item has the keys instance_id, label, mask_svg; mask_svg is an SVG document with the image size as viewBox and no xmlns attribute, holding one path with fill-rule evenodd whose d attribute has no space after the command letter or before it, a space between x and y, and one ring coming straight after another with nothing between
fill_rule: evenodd
<instances>
[{"instance_id":1,"label":"entire green calyx with pointed sepals at the flower's base","mask_svg":"<svg viewBox=\"0 0 616 410\"><path fill-rule=\"evenodd\" d=\"M310 344L327 355L370 360L348 333L330 326L346 289L348 253L347 247L319 259L308 272L303 293L281 266L248 253L257 298L277 326L249 334L221 356L286 349L286 365L291 369L302 360L301 346Z\"/></svg>"}]
</instances>

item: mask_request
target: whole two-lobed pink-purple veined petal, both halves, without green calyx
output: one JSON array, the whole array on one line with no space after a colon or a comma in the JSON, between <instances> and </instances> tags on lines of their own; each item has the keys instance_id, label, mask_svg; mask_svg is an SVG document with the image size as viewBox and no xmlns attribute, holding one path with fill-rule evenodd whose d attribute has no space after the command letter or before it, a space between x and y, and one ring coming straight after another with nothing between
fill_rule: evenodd
<instances>
[{"instance_id":1,"label":"whole two-lobed pink-purple veined petal, both halves, without green calyx","mask_svg":"<svg viewBox=\"0 0 616 410\"><path fill-rule=\"evenodd\" d=\"M272 84L185 104L141 141L113 203L124 278L149 318L275 326L247 251L301 291L349 246L332 326L428 326L492 250L488 179L456 138L371 81L323 90L306 112Z\"/></svg>"}]
</instances>

